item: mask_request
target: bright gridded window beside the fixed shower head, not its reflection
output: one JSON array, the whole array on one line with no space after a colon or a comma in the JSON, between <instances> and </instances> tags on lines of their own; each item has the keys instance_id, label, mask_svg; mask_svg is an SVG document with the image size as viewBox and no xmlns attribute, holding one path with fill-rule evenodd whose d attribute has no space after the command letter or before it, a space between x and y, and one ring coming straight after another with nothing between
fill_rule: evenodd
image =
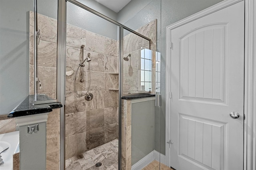
<instances>
[{"instance_id":1,"label":"bright gridded window beside the fixed shower head, not its reflection","mask_svg":"<svg viewBox=\"0 0 256 170\"><path fill-rule=\"evenodd\" d=\"M140 51L140 85L141 91L152 91L152 51L142 49Z\"/></svg>"}]
</instances>

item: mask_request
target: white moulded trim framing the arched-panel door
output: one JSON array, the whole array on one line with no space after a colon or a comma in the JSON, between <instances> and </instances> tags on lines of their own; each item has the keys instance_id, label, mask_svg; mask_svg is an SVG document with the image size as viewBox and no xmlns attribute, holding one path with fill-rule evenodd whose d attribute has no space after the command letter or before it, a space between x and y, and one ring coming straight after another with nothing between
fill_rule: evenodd
<instances>
[{"instance_id":1,"label":"white moulded trim framing the arched-panel door","mask_svg":"<svg viewBox=\"0 0 256 170\"><path fill-rule=\"evenodd\" d=\"M236 4L242 0L224 0L183 20L166 27L166 141L170 140L171 121L171 30ZM245 53L244 53L244 170L256 169L256 2L245 2ZM255 114L254 114L255 113ZM166 165L170 165L170 147L166 143Z\"/></svg>"}]
</instances>

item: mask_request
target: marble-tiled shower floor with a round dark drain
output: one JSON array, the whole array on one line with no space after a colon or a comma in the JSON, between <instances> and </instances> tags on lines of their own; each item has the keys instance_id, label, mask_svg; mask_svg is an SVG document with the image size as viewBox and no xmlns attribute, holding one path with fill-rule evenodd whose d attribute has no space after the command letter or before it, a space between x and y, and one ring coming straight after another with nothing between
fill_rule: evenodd
<instances>
[{"instance_id":1,"label":"marble-tiled shower floor with a round dark drain","mask_svg":"<svg viewBox=\"0 0 256 170\"><path fill-rule=\"evenodd\" d=\"M67 159L66 170L118 170L118 139Z\"/></svg>"}]
</instances>

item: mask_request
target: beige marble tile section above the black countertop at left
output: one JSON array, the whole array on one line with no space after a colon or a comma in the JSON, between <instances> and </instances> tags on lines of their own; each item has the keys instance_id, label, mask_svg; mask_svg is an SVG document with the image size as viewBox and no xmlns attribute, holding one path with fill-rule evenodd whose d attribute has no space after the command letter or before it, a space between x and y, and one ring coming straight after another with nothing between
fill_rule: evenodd
<instances>
[{"instance_id":1,"label":"beige marble tile section above the black countertop at left","mask_svg":"<svg viewBox=\"0 0 256 170\"><path fill-rule=\"evenodd\" d=\"M38 78L42 89L38 94L46 94L56 99L57 87L57 20L38 14ZM34 12L29 13L29 67L30 67L30 95L34 94Z\"/></svg>"}]
</instances>

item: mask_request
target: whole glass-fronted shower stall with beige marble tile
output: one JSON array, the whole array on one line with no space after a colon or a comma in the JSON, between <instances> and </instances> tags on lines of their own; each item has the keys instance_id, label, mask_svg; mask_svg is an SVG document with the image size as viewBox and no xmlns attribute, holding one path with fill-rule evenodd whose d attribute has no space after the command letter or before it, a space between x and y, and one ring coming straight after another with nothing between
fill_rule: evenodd
<instances>
[{"instance_id":1,"label":"whole glass-fronted shower stall with beige marble tile","mask_svg":"<svg viewBox=\"0 0 256 170\"><path fill-rule=\"evenodd\" d=\"M47 166L129 170L143 168L146 157L163 162L160 20L132 30L76 0L59 0L58 17L40 13L40 3L29 14L30 93L64 105L49 117L59 116L60 128L48 125Z\"/></svg>"}]
</instances>

